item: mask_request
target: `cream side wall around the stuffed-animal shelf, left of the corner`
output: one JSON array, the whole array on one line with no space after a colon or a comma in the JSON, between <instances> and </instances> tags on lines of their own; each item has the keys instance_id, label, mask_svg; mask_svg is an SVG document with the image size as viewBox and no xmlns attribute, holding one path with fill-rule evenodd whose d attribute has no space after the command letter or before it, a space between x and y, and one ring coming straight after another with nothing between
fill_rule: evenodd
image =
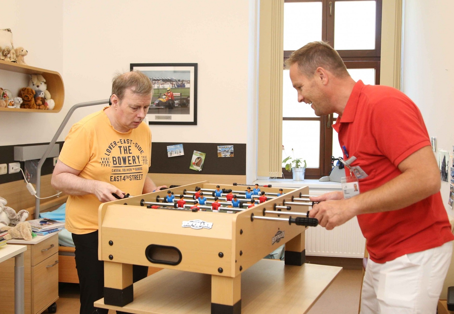
<instances>
[{"instance_id":1,"label":"cream side wall around the stuffed-animal shelf, left of the corner","mask_svg":"<svg viewBox=\"0 0 454 314\"><path fill-rule=\"evenodd\" d=\"M38 68L63 71L63 2L13 0L1 2L0 29L11 29L15 47L28 50L25 62ZM11 78L14 77L13 80ZM24 86L15 86L22 77ZM1 71L0 87L12 92L26 87L24 75ZM14 91L15 90L15 91ZM17 96L17 95L14 95ZM67 109L65 109L67 111ZM49 142L62 114L0 112L0 146Z\"/></svg>"}]
</instances>

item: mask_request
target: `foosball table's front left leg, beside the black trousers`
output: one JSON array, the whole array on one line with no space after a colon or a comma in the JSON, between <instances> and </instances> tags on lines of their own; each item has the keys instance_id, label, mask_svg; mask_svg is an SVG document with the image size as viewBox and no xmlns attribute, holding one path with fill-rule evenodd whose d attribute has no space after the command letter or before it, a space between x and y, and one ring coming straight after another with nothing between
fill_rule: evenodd
<instances>
[{"instance_id":1,"label":"foosball table's front left leg, beside the black trousers","mask_svg":"<svg viewBox=\"0 0 454 314\"><path fill-rule=\"evenodd\" d=\"M104 261L104 304L125 306L133 299L133 266Z\"/></svg>"}]
</instances>

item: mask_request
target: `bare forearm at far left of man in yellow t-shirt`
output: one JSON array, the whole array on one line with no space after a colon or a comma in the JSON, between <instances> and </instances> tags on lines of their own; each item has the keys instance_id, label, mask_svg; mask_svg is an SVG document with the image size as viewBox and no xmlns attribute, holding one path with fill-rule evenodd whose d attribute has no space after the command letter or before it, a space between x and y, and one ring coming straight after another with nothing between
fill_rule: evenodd
<instances>
[{"instance_id":1,"label":"bare forearm at far left of man in yellow t-shirt","mask_svg":"<svg viewBox=\"0 0 454 314\"><path fill-rule=\"evenodd\" d=\"M80 178L75 174L61 173L52 177L52 187L68 195L87 195L94 193L95 180Z\"/></svg>"}]
</instances>

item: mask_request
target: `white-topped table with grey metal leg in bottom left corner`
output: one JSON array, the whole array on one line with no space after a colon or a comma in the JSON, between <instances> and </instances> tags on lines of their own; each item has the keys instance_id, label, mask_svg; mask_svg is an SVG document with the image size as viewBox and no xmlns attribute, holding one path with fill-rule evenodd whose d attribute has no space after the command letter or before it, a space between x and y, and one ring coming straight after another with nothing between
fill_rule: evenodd
<instances>
[{"instance_id":1,"label":"white-topped table with grey metal leg in bottom left corner","mask_svg":"<svg viewBox=\"0 0 454 314\"><path fill-rule=\"evenodd\" d=\"M25 245L5 245L0 247L0 263L15 257L14 264L14 313L24 313L24 252Z\"/></svg>"}]
</instances>

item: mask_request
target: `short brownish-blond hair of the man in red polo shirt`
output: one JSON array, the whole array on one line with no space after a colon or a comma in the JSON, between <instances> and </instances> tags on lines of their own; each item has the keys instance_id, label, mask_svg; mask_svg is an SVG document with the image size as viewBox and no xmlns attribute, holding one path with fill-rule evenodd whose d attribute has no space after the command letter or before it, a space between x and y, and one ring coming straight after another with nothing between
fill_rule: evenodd
<instances>
[{"instance_id":1,"label":"short brownish-blond hair of the man in red polo shirt","mask_svg":"<svg viewBox=\"0 0 454 314\"><path fill-rule=\"evenodd\" d=\"M325 68L337 77L350 75L339 53L323 41L308 43L294 51L285 61L286 68L294 63L298 64L300 71L307 77L314 75L318 67Z\"/></svg>"}]
</instances>

